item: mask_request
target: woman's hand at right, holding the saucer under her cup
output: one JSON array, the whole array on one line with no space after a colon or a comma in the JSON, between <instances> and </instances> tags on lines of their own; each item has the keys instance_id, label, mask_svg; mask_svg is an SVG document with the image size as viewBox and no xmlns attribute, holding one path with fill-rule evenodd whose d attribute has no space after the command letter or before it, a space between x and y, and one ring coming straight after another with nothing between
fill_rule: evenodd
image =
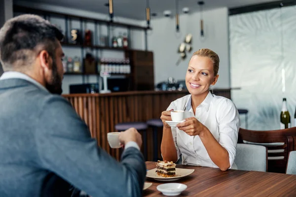
<instances>
[{"instance_id":1,"label":"woman's hand at right, holding the saucer under her cup","mask_svg":"<svg viewBox=\"0 0 296 197\"><path fill-rule=\"evenodd\" d=\"M195 117L186 118L185 122L179 123L176 127L191 136L199 135L205 129Z\"/></svg>"}]
</instances>

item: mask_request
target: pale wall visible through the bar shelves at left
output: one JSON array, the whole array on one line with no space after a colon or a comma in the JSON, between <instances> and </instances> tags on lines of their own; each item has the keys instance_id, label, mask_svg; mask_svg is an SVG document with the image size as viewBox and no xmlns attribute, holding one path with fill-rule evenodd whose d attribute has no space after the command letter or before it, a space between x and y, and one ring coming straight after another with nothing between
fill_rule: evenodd
<instances>
[{"instance_id":1,"label":"pale wall visible through the bar shelves at left","mask_svg":"<svg viewBox=\"0 0 296 197\"><path fill-rule=\"evenodd\" d=\"M55 5L49 5L45 3L34 3L29 1L20 1L16 0L14 1L14 4L26 6L26 7L32 7L42 10L48 10L48 11L54 11L54 12L60 12L65 14L72 14L72 15L78 15L83 17L90 17L90 18L97 18L97 19L103 19L103 20L109 20L108 14L101 14L96 12L90 12L85 10L79 10L79 9L73 9L68 7L62 7L62 6L55 6ZM127 23L132 25L143 25L143 21L129 19L129 18L123 18L123 17L114 17L113 19L115 22L121 22L121 23ZM61 26L62 29L65 29L65 21L61 18L50 18L51 23L57 24ZM73 28L80 29L79 21L73 21L72 22ZM94 25L93 23L87 23L87 28L94 31ZM100 26L99 31L102 34L107 34L107 28L106 26ZM126 32L127 29L125 28L112 28L111 30L114 35L118 35L119 32ZM145 33L141 30L131 30L130 32L130 47L133 49L139 49L144 50L145 49ZM63 50L66 54L66 56L74 57L78 56L81 59L81 50L77 47L63 47ZM84 50L85 54L85 50ZM95 55L96 52L93 50L93 54ZM124 58L124 52L123 51L111 51L111 50L99 50L98 55L100 58ZM98 77L96 75L85 75L85 83L96 83L98 82ZM69 93L69 85L70 84L81 84L82 83L82 75L64 75L63 80L63 94Z\"/></svg>"}]
</instances>

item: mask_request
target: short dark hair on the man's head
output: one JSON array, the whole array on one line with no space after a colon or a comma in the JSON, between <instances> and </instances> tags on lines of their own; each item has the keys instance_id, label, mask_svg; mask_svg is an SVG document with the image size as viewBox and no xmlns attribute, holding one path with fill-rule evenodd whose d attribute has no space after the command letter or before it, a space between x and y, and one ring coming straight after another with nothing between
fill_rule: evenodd
<instances>
[{"instance_id":1,"label":"short dark hair on the man's head","mask_svg":"<svg viewBox=\"0 0 296 197\"><path fill-rule=\"evenodd\" d=\"M0 29L3 70L22 70L31 66L42 50L54 59L57 41L63 37L58 28L37 15L25 14L6 21Z\"/></svg>"}]
</instances>

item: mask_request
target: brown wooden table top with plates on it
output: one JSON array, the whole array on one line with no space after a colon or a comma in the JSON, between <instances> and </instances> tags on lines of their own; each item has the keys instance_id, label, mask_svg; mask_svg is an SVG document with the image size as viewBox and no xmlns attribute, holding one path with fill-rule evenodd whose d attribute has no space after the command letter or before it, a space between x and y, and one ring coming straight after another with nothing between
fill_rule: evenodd
<instances>
[{"instance_id":1,"label":"brown wooden table top with plates on it","mask_svg":"<svg viewBox=\"0 0 296 197\"><path fill-rule=\"evenodd\" d=\"M146 162L147 169L155 168L155 162ZM296 175L227 170L218 168L180 165L179 168L195 169L177 181L187 185L180 196L198 197L296 197ZM163 181L147 179L152 185L143 192L144 197L164 196L156 190Z\"/></svg>"}]
</instances>

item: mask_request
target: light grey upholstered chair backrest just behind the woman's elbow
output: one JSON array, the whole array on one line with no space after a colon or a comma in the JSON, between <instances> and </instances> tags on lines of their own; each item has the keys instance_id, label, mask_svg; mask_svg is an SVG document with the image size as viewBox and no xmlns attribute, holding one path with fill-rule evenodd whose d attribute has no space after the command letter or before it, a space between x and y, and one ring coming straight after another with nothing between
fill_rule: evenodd
<instances>
[{"instance_id":1,"label":"light grey upholstered chair backrest just behind the woman's elbow","mask_svg":"<svg viewBox=\"0 0 296 197\"><path fill-rule=\"evenodd\" d=\"M267 148L252 144L237 144L234 163L237 169L267 171Z\"/></svg>"}]
</instances>

